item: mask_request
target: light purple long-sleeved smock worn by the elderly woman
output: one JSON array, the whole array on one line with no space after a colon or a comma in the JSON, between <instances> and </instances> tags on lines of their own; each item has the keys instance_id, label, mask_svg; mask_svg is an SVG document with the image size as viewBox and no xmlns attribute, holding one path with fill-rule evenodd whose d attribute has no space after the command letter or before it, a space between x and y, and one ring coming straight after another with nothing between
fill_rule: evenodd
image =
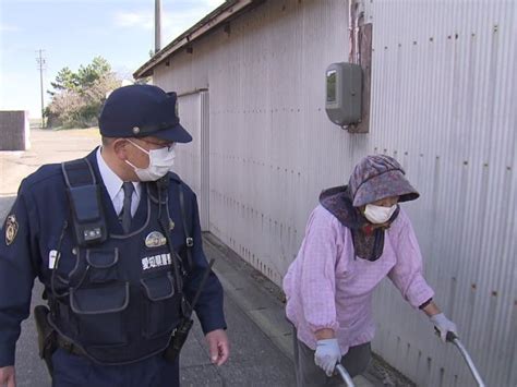
<instances>
[{"instance_id":1,"label":"light purple long-sleeved smock worn by the elderly woman","mask_svg":"<svg viewBox=\"0 0 517 387\"><path fill-rule=\"evenodd\" d=\"M422 276L422 256L406 213L386 231L383 255L356 258L350 230L321 205L311 214L297 258L284 278L286 313L298 339L315 349L314 332L336 331L341 353L373 339L372 293L388 276L418 307L434 295Z\"/></svg>"}]
</instances>

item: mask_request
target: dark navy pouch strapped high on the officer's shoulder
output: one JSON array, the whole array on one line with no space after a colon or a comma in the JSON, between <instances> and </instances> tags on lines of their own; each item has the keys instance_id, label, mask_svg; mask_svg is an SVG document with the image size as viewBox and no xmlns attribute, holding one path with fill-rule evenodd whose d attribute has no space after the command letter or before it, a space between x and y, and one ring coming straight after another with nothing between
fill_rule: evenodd
<instances>
[{"instance_id":1,"label":"dark navy pouch strapped high on the officer's shoulder","mask_svg":"<svg viewBox=\"0 0 517 387\"><path fill-rule=\"evenodd\" d=\"M61 169L67 182L77 244L85 247L106 241L107 228L100 204L100 186L92 166L86 159L79 159L63 162Z\"/></svg>"}]
</instances>

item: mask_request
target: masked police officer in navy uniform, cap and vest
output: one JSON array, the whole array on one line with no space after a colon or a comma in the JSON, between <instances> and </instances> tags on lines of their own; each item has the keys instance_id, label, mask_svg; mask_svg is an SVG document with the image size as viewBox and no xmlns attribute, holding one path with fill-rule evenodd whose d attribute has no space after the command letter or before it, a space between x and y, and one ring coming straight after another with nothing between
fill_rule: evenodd
<instances>
[{"instance_id":1,"label":"masked police officer in navy uniform, cap and vest","mask_svg":"<svg viewBox=\"0 0 517 387\"><path fill-rule=\"evenodd\" d=\"M101 147L22 182L3 225L0 386L15 386L36 276L49 305L38 330L53 386L178 386L178 332L192 309L212 362L228 359L223 289L203 253L196 197L170 172L176 143L192 140L176 94L118 88L99 129Z\"/></svg>"}]
</instances>

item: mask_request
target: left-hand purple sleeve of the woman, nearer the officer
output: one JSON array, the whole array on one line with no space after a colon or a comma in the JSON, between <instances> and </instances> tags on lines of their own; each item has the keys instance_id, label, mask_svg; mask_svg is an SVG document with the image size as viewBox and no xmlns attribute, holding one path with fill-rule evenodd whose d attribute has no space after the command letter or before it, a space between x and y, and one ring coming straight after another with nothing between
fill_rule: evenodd
<instances>
[{"instance_id":1,"label":"left-hand purple sleeve of the woman, nearer the officer","mask_svg":"<svg viewBox=\"0 0 517 387\"><path fill-rule=\"evenodd\" d=\"M335 302L338 227L337 219L323 207L312 213L306 226L301 247L301 300L312 331L339 327Z\"/></svg>"}]
</instances>

